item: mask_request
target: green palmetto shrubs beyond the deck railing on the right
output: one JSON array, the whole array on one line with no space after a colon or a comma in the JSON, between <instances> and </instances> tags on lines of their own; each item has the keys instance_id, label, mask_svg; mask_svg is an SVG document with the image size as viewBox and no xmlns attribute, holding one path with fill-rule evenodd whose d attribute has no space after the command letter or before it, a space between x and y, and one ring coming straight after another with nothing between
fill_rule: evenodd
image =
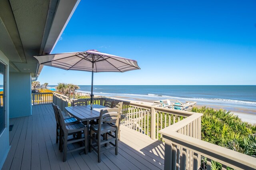
<instances>
[{"instance_id":1,"label":"green palmetto shrubs beyond the deck railing on the right","mask_svg":"<svg viewBox=\"0 0 256 170\"><path fill-rule=\"evenodd\" d=\"M256 125L241 121L238 116L223 109L193 107L201 117L201 140L256 157ZM202 168L206 158L202 157ZM212 161L212 170L221 170L222 165ZM231 169L231 168L227 168Z\"/></svg>"}]
</instances>

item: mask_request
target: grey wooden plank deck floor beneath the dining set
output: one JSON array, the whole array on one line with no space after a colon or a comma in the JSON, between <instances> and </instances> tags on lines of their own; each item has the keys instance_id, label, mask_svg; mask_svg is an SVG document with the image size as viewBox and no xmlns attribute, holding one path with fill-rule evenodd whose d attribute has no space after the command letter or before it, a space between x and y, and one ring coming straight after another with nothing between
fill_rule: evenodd
<instances>
[{"instance_id":1,"label":"grey wooden plank deck floor beneath the dining set","mask_svg":"<svg viewBox=\"0 0 256 170\"><path fill-rule=\"evenodd\" d=\"M67 161L62 162L51 104L33 106L32 116L12 118L10 125L14 125L10 131L12 147L3 170L164 169L164 144L124 126L121 127L118 155L114 150L105 152L98 163L94 151L82 155L72 152Z\"/></svg>"}]
</instances>

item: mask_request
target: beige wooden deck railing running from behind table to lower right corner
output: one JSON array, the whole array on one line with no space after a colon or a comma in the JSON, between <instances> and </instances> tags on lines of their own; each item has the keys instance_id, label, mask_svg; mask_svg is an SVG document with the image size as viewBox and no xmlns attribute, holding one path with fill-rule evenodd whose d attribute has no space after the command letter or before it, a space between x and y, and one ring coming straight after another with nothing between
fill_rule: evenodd
<instances>
[{"instance_id":1,"label":"beige wooden deck railing running from behind table to lower right corner","mask_svg":"<svg viewBox=\"0 0 256 170\"><path fill-rule=\"evenodd\" d=\"M52 102L62 111L65 111L68 102L73 102L67 96L52 95ZM90 98L84 100L90 104ZM94 98L94 104L104 105L105 100ZM222 164L223 170L227 167L256 169L256 158L200 140L201 113L119 101L123 102L122 125L165 142L165 170L198 170L201 158L206 158L207 170L211 169L212 160Z\"/></svg>"}]
</instances>

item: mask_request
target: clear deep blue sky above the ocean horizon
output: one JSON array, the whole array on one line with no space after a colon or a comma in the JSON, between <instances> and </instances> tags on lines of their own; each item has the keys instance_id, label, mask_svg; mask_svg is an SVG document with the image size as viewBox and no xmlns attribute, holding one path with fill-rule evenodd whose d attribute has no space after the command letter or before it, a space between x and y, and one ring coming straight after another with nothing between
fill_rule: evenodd
<instances>
[{"instance_id":1,"label":"clear deep blue sky above the ocean horizon","mask_svg":"<svg viewBox=\"0 0 256 170\"><path fill-rule=\"evenodd\" d=\"M94 85L256 85L256 1L84 1L52 53L96 49L141 70ZM40 83L90 85L91 73L44 66Z\"/></svg>"}]
</instances>

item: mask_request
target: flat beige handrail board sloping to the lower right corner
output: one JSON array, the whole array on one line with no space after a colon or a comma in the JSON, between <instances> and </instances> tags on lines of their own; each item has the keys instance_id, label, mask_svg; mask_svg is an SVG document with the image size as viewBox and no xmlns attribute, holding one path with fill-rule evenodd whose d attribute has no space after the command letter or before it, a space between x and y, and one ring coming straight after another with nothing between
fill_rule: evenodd
<instances>
[{"instance_id":1,"label":"flat beige handrail board sloping to the lower right corner","mask_svg":"<svg viewBox=\"0 0 256 170\"><path fill-rule=\"evenodd\" d=\"M180 121L181 122L181 121ZM178 123L177 123L178 124ZM174 124L176 125L176 124ZM173 125L171 125L173 126ZM171 129L171 126L166 127L165 129ZM208 143L206 141L202 141L200 139L196 139L193 137L189 137L174 131L167 131L162 129L160 133L162 133L164 139L168 139L174 145L180 145L182 143L182 147L185 147L197 154L201 154L210 158L212 160L216 160L221 164L225 164L231 168L235 169L248 169L256 168L256 158L242 154L240 152L236 152L231 149L227 149L212 143ZM233 163L228 163L233 162Z\"/></svg>"}]
</instances>

